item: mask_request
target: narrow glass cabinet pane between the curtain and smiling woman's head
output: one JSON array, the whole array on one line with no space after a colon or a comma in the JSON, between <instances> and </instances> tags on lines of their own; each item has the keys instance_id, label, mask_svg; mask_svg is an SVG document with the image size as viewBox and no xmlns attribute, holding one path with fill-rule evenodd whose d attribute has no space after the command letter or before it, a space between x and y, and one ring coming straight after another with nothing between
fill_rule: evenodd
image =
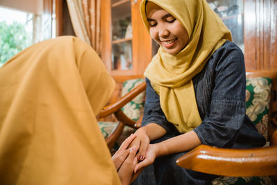
<instances>
[{"instance_id":1,"label":"narrow glass cabinet pane between the curtain and smiling woman's head","mask_svg":"<svg viewBox=\"0 0 277 185\"><path fill-rule=\"evenodd\" d=\"M130 0L111 0L111 70L133 69Z\"/></svg>"}]
</instances>

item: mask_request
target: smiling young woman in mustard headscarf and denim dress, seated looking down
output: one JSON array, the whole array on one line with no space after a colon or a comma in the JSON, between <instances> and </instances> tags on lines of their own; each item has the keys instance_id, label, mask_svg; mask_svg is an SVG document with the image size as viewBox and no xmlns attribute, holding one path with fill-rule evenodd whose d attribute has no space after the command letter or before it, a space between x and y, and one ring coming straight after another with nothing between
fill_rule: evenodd
<instances>
[{"instance_id":1,"label":"smiling young woman in mustard headscarf and denim dress, seated looking down","mask_svg":"<svg viewBox=\"0 0 277 185\"><path fill-rule=\"evenodd\" d=\"M200 144L263 146L245 114L242 51L205 0L143 0L141 15L160 45L145 71L147 89L135 184L205 184L213 175L175 161Z\"/></svg>"}]
</instances>

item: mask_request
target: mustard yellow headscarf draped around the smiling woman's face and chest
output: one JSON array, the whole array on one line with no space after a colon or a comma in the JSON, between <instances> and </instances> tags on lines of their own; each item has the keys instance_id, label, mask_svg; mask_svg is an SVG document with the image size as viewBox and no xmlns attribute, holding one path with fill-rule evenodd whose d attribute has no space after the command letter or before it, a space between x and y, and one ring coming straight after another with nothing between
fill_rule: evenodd
<instances>
[{"instance_id":1,"label":"mustard yellow headscarf draped around the smiling woman's face and chest","mask_svg":"<svg viewBox=\"0 0 277 185\"><path fill-rule=\"evenodd\" d=\"M141 16L149 32L146 1L141 2ZM192 78L226 39L231 40L231 33L206 0L150 1L176 17L188 33L189 41L183 50L170 55L161 46L144 73L160 96L161 109L168 121L185 133L202 122Z\"/></svg>"}]
</instances>

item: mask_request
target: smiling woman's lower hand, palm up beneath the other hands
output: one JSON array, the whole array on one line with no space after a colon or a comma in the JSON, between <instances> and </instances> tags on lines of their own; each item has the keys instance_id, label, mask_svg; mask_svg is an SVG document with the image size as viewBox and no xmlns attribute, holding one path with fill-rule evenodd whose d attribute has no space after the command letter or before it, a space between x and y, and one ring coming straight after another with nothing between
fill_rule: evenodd
<instances>
[{"instance_id":1,"label":"smiling woman's lower hand, palm up beneath the other hands","mask_svg":"<svg viewBox=\"0 0 277 185\"><path fill-rule=\"evenodd\" d=\"M139 164L136 164L136 166L134 167L134 173L137 173L139 170L145 168L146 166L153 164L158 154L159 146L157 144L149 145L145 155L145 159L139 162Z\"/></svg>"}]
</instances>

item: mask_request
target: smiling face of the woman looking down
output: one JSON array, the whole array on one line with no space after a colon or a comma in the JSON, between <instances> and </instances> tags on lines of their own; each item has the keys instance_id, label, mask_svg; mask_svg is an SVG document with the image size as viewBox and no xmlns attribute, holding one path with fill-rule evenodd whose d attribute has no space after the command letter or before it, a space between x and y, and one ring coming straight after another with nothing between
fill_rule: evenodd
<instances>
[{"instance_id":1,"label":"smiling face of the woman looking down","mask_svg":"<svg viewBox=\"0 0 277 185\"><path fill-rule=\"evenodd\" d=\"M163 49L176 55L188 44L188 33L181 22L155 3L148 1L146 16L150 35Z\"/></svg>"}]
</instances>

